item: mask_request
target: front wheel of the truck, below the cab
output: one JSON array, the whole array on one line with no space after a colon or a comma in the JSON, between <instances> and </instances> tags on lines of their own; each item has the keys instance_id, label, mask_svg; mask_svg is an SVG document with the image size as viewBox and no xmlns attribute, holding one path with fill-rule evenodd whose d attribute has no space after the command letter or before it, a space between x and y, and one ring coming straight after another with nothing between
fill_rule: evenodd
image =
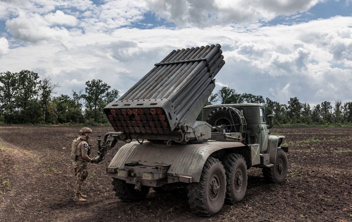
<instances>
[{"instance_id":1,"label":"front wheel of the truck, below the cab","mask_svg":"<svg viewBox=\"0 0 352 222\"><path fill-rule=\"evenodd\" d=\"M276 160L273 167L263 168L263 176L269 183L281 183L285 180L288 169L287 156L280 148L276 151Z\"/></svg>"}]
</instances>

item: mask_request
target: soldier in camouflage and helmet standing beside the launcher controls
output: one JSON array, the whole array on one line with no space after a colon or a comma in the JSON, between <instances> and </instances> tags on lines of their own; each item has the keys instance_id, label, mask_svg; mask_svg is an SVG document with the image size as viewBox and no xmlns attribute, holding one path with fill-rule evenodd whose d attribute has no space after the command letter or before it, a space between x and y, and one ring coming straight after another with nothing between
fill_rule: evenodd
<instances>
[{"instance_id":1,"label":"soldier in camouflage and helmet standing beside the launcher controls","mask_svg":"<svg viewBox=\"0 0 352 222\"><path fill-rule=\"evenodd\" d=\"M90 145L88 143L88 139L90 138L90 134L92 134L92 129L88 127L83 127L80 130L80 136L76 137L71 145L71 159L73 160L73 170L75 176L77 177L76 184L75 184L75 197L73 198L74 201L79 202L86 202L87 200L84 199L87 196L81 194L81 188L83 181L88 176L87 171L87 161L90 163L98 163L95 159L90 158Z\"/></svg>"}]
</instances>

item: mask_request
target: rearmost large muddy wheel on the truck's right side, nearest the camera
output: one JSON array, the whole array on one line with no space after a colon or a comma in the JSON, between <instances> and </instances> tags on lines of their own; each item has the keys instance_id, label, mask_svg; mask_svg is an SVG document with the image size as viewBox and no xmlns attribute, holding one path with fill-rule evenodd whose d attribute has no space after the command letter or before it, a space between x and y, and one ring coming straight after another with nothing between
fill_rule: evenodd
<instances>
[{"instance_id":1,"label":"rearmost large muddy wheel on the truck's right side, nearest the camera","mask_svg":"<svg viewBox=\"0 0 352 222\"><path fill-rule=\"evenodd\" d=\"M220 160L209 157L198 183L188 185L188 203L200 216L213 216L224 205L226 175Z\"/></svg>"}]
</instances>

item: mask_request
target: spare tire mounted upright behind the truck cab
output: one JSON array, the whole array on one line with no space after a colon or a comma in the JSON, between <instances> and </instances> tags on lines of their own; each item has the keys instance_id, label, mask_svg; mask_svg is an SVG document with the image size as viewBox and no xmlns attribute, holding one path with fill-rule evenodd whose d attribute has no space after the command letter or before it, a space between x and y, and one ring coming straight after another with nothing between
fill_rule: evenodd
<instances>
[{"instance_id":1,"label":"spare tire mounted upright behind the truck cab","mask_svg":"<svg viewBox=\"0 0 352 222\"><path fill-rule=\"evenodd\" d=\"M207 123L212 126L227 125L231 133L246 133L246 120L236 108L223 106L214 109L208 116Z\"/></svg>"}]
</instances>

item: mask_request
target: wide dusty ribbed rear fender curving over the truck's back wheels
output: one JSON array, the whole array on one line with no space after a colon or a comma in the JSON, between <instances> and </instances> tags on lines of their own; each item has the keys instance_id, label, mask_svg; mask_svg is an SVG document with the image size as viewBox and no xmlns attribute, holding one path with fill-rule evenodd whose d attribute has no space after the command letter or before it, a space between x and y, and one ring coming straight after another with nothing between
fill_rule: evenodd
<instances>
[{"instance_id":1,"label":"wide dusty ribbed rear fender curving over the truck's back wheels","mask_svg":"<svg viewBox=\"0 0 352 222\"><path fill-rule=\"evenodd\" d=\"M192 177L193 182L199 182L203 166L212 153L222 149L244 146L247 145L242 142L220 141L171 146L152 144L151 142L143 144L131 142L119 149L109 167L124 169L125 164L136 161L140 164L143 162L156 165L167 164L170 165L168 175Z\"/></svg>"}]
</instances>

